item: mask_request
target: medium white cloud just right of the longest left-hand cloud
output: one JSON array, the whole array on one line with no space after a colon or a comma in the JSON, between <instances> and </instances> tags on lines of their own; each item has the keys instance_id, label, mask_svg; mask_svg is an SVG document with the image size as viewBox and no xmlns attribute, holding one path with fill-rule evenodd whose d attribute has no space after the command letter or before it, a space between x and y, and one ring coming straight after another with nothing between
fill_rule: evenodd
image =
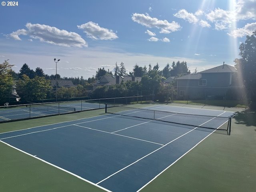
<instances>
[{"instance_id":1,"label":"medium white cloud just right of the longest left-hand cloud","mask_svg":"<svg viewBox=\"0 0 256 192\"><path fill-rule=\"evenodd\" d=\"M79 29L84 30L86 36L94 40L113 40L118 36L110 29L100 27L98 23L88 22L77 26Z\"/></svg>"}]
</instances>

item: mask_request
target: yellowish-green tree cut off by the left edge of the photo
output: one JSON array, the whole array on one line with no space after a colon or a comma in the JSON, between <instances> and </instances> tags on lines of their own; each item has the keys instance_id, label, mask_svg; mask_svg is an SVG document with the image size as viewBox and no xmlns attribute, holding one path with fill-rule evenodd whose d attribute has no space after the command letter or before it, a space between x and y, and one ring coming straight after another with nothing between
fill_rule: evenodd
<instances>
[{"instance_id":1,"label":"yellowish-green tree cut off by the left edge of the photo","mask_svg":"<svg viewBox=\"0 0 256 192\"><path fill-rule=\"evenodd\" d=\"M8 60L0 64L0 101L6 102L12 92L14 85L12 78L12 66Z\"/></svg>"}]
</instances>

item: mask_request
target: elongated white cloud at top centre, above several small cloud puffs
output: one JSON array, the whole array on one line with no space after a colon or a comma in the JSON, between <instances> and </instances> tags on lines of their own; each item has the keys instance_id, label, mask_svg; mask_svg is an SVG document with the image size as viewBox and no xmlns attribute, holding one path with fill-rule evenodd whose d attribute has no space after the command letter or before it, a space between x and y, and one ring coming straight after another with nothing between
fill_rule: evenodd
<instances>
[{"instance_id":1,"label":"elongated white cloud at top centre, above several small cloud puffs","mask_svg":"<svg viewBox=\"0 0 256 192\"><path fill-rule=\"evenodd\" d=\"M157 18L152 18L148 14L132 14L132 20L146 26L148 28L158 28L161 29L160 33L171 33L178 31L181 27L178 23L172 21L169 23L167 20L158 20Z\"/></svg>"}]
</instances>

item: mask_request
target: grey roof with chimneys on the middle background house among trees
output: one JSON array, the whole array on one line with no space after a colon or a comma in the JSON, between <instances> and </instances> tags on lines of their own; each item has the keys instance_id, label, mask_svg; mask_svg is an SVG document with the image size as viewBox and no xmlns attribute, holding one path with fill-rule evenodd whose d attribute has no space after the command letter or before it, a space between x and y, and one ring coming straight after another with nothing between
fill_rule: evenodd
<instances>
[{"instance_id":1,"label":"grey roof with chimneys on the middle background house among trees","mask_svg":"<svg viewBox=\"0 0 256 192\"><path fill-rule=\"evenodd\" d=\"M132 77L130 76L119 76L119 84L122 82L122 80L124 82L127 82L127 81L132 81ZM141 81L141 77L134 77L134 81L138 81L140 82ZM96 82L94 85L106 85L106 86L110 86L110 85L114 85L116 84L116 76L107 76L107 75L104 75L102 76L102 78Z\"/></svg>"}]
</instances>

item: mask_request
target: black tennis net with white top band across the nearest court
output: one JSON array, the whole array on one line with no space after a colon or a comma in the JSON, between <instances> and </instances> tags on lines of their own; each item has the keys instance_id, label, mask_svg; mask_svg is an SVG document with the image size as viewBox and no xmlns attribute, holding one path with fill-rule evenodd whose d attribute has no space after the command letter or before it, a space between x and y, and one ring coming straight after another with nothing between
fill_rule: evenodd
<instances>
[{"instance_id":1,"label":"black tennis net with white top band across the nearest court","mask_svg":"<svg viewBox=\"0 0 256 192\"><path fill-rule=\"evenodd\" d=\"M229 134L231 129L231 117L185 114L144 108L132 108L128 106L114 106L106 108L105 112L120 116L158 120L185 126L225 130L228 131Z\"/></svg>"}]
</instances>

